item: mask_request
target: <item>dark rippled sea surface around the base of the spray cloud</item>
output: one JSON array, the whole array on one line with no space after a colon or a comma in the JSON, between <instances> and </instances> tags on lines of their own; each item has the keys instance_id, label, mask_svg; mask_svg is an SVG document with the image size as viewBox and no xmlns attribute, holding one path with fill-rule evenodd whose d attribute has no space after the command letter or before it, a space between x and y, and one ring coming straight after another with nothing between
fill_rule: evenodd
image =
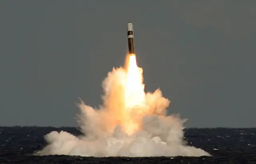
<instances>
[{"instance_id":1,"label":"dark rippled sea surface around the base of the spray cloud","mask_svg":"<svg viewBox=\"0 0 256 164\"><path fill-rule=\"evenodd\" d=\"M0 164L256 164L256 128L188 128L185 140L212 156L202 157L109 157L33 156L46 143L43 136L52 131L80 134L76 128L0 127Z\"/></svg>"}]
</instances>

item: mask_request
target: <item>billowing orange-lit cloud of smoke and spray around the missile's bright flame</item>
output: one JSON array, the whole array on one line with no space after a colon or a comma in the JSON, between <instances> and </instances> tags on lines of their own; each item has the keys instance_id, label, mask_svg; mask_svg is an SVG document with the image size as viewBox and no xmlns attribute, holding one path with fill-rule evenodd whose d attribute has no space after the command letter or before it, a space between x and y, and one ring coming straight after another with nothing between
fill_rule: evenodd
<instances>
[{"instance_id":1,"label":"billowing orange-lit cloud of smoke and spray around the missile's bright flame","mask_svg":"<svg viewBox=\"0 0 256 164\"><path fill-rule=\"evenodd\" d=\"M142 106L133 106L127 112L124 102L124 84L127 72L113 69L103 82L103 106L93 109L81 101L78 106L78 124L83 136L68 132L50 132L45 136L48 145L36 155L72 156L210 156L200 148L187 146L183 140L183 123L176 115L166 116L170 101L156 90L144 96ZM126 132L128 120L137 129Z\"/></svg>"}]
</instances>

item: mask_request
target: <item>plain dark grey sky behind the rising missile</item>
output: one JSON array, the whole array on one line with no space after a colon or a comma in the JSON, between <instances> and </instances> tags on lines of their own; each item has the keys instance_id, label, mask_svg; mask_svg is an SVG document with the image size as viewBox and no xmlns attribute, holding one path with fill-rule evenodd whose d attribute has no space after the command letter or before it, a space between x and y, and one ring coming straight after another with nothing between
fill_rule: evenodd
<instances>
[{"instance_id":1,"label":"plain dark grey sky behind the rising missile","mask_svg":"<svg viewBox=\"0 0 256 164\"><path fill-rule=\"evenodd\" d=\"M188 127L256 126L255 0L1 0L0 126L76 126L127 52Z\"/></svg>"}]
</instances>

